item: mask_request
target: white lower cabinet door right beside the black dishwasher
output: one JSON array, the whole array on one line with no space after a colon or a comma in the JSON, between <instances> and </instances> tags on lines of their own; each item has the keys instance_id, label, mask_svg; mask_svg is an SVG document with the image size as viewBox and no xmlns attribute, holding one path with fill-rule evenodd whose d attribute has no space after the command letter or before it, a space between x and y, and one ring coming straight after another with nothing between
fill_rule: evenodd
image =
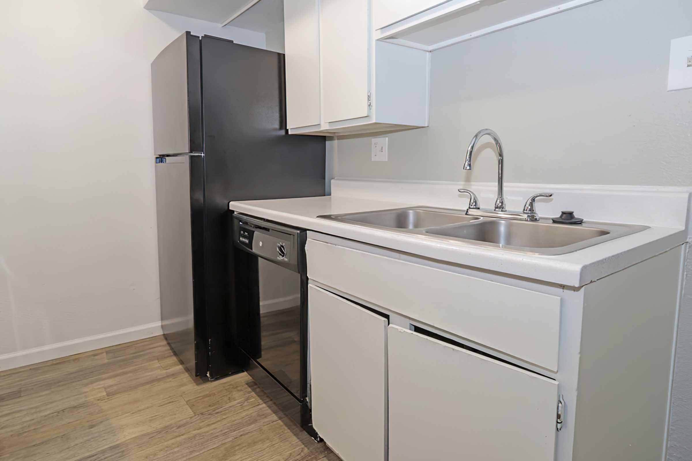
<instances>
[{"instance_id":1,"label":"white lower cabinet door right beside the black dishwasher","mask_svg":"<svg viewBox=\"0 0 692 461\"><path fill-rule=\"evenodd\" d=\"M388 320L314 285L308 317L314 428L344 461L385 460Z\"/></svg>"}]
</instances>

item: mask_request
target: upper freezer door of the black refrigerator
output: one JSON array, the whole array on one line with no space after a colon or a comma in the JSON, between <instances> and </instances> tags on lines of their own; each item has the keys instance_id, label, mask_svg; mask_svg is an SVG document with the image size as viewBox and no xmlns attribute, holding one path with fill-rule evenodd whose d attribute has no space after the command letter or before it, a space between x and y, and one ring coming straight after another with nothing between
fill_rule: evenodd
<instances>
[{"instance_id":1,"label":"upper freezer door of the black refrigerator","mask_svg":"<svg viewBox=\"0 0 692 461\"><path fill-rule=\"evenodd\" d=\"M199 37L185 32L152 62L154 154L202 151Z\"/></svg>"}]
</instances>

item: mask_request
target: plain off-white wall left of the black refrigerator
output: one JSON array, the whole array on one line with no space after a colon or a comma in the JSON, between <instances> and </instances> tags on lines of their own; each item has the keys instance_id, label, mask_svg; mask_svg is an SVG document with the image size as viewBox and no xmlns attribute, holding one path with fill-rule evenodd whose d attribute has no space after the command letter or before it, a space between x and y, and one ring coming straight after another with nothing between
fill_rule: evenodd
<instances>
[{"instance_id":1,"label":"plain off-white wall left of the black refrigerator","mask_svg":"<svg viewBox=\"0 0 692 461\"><path fill-rule=\"evenodd\" d=\"M141 0L2 2L0 370L160 332L149 64L185 30L264 47Z\"/></svg>"}]
</instances>

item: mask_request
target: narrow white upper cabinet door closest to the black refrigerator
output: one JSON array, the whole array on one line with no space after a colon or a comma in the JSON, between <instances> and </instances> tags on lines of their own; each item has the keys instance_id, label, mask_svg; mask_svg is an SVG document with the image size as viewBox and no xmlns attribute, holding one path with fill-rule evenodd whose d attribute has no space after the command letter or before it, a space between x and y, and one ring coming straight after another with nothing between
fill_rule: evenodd
<instances>
[{"instance_id":1,"label":"narrow white upper cabinet door closest to the black refrigerator","mask_svg":"<svg viewBox=\"0 0 692 461\"><path fill-rule=\"evenodd\" d=\"M284 0L289 128L320 124L319 0Z\"/></svg>"}]
</instances>

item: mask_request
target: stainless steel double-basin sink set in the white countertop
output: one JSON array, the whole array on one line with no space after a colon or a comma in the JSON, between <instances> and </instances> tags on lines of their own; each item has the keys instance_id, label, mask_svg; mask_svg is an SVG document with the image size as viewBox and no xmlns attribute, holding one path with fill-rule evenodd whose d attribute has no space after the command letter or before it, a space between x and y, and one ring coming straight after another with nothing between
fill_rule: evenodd
<instances>
[{"instance_id":1,"label":"stainless steel double-basin sink set in the white countertop","mask_svg":"<svg viewBox=\"0 0 692 461\"><path fill-rule=\"evenodd\" d=\"M584 221L579 225L466 216L464 210L410 207L332 214L318 218L444 241L462 241L484 247L530 254L557 255L614 240L648 229L647 226Z\"/></svg>"}]
</instances>

